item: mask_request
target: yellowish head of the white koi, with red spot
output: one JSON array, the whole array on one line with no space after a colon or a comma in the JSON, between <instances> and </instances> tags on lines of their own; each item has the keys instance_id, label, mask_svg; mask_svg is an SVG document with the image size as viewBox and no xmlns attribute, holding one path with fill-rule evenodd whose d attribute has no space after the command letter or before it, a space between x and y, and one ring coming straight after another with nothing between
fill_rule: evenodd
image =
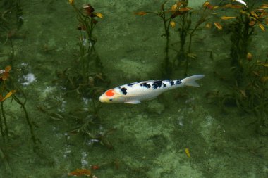
<instances>
[{"instance_id":1,"label":"yellowish head of the white koi, with red spot","mask_svg":"<svg viewBox=\"0 0 268 178\"><path fill-rule=\"evenodd\" d=\"M125 98L116 89L109 89L102 96L99 96L99 101L102 103L123 103Z\"/></svg>"}]
</instances>

